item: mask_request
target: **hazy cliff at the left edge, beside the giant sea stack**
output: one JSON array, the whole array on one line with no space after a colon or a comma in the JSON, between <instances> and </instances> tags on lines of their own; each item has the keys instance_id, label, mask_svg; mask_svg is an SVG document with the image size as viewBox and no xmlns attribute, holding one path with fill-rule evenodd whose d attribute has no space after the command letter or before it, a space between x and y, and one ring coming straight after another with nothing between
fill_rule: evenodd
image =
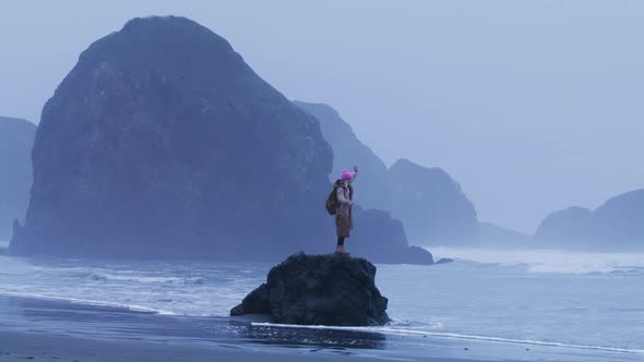
<instances>
[{"instance_id":1,"label":"hazy cliff at the left edge, beside the giant sea stack","mask_svg":"<svg viewBox=\"0 0 644 362\"><path fill-rule=\"evenodd\" d=\"M0 117L0 240L9 240L13 220L25 217L35 134L34 123Z\"/></svg>"}]
</instances>

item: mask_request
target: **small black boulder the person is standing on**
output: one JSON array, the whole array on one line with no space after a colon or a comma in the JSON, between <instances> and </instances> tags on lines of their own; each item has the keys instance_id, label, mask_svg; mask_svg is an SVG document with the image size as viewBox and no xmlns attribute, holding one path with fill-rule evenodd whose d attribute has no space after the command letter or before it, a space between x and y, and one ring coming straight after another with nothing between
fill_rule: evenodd
<instances>
[{"instance_id":1,"label":"small black boulder the person is standing on","mask_svg":"<svg viewBox=\"0 0 644 362\"><path fill-rule=\"evenodd\" d=\"M231 315L271 314L276 323L373 326L389 321L387 299L375 287L375 266L346 255L288 257Z\"/></svg>"}]
</instances>

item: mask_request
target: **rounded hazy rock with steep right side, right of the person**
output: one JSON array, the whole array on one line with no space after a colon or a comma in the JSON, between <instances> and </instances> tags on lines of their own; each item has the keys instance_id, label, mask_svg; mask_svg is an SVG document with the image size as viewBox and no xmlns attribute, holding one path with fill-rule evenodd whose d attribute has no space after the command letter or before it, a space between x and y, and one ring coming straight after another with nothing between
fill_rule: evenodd
<instances>
[{"instance_id":1,"label":"rounded hazy rock with steep right side, right of the person","mask_svg":"<svg viewBox=\"0 0 644 362\"><path fill-rule=\"evenodd\" d=\"M402 159L390 169L392 215L409 240L433 245L476 244L479 227L472 202L445 171Z\"/></svg>"}]
</instances>

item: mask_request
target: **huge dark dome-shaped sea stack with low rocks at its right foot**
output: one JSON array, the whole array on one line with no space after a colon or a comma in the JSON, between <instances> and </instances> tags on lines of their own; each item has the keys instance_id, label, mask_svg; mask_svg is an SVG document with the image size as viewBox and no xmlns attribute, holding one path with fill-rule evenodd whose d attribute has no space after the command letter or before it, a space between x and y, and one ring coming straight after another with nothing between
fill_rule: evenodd
<instances>
[{"instance_id":1,"label":"huge dark dome-shaped sea stack with low rocks at its right foot","mask_svg":"<svg viewBox=\"0 0 644 362\"><path fill-rule=\"evenodd\" d=\"M45 105L10 252L277 261L327 251L332 164L318 120L224 38L184 17L134 19L92 44ZM363 241L381 262L431 263L399 222L372 215L356 220L389 228Z\"/></svg>"}]
</instances>

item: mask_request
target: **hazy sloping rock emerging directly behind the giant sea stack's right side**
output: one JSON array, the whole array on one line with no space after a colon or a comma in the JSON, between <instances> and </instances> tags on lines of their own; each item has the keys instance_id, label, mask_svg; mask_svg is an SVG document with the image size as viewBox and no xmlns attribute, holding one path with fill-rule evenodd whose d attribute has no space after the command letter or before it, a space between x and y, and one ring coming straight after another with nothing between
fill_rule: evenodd
<instances>
[{"instance_id":1,"label":"hazy sloping rock emerging directly behind the giant sea stack's right side","mask_svg":"<svg viewBox=\"0 0 644 362\"><path fill-rule=\"evenodd\" d=\"M332 179L339 178L343 169L360 167L359 189L356 204L365 208L390 210L392 207L391 182L384 162L365 145L351 126L337 111L327 105L294 101L298 107L314 116L322 129L324 140L333 148Z\"/></svg>"}]
</instances>

